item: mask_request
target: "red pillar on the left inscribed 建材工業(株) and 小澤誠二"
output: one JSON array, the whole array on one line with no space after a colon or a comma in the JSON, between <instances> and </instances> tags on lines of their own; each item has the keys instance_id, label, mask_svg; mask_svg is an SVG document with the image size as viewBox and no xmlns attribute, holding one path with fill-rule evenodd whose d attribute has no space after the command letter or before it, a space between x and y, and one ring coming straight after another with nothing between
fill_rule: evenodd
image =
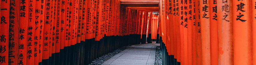
<instances>
[{"instance_id":1,"label":"red pillar on the left inscribed \u5efa\u6750\u5de5\u696d(\u682a) and \u5c0f\u6fa4\u8aa0\u4e8c","mask_svg":"<svg viewBox=\"0 0 256 65\"><path fill-rule=\"evenodd\" d=\"M48 59L49 58L49 35L50 35L50 0L46 0L46 12L45 12L45 22L44 22L44 31L43 31L43 61L42 64L48 64Z\"/></svg>"}]
</instances>

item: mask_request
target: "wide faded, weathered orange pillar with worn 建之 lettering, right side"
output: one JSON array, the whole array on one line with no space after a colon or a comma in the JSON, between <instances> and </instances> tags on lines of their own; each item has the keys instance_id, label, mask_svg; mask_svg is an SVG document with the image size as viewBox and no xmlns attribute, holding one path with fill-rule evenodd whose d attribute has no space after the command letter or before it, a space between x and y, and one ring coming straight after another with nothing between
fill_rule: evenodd
<instances>
[{"instance_id":1,"label":"wide faded, weathered orange pillar with worn \u5efa\u4e4b lettering, right side","mask_svg":"<svg viewBox=\"0 0 256 65\"><path fill-rule=\"evenodd\" d=\"M219 65L234 64L232 1L217 1Z\"/></svg>"}]
</instances>

